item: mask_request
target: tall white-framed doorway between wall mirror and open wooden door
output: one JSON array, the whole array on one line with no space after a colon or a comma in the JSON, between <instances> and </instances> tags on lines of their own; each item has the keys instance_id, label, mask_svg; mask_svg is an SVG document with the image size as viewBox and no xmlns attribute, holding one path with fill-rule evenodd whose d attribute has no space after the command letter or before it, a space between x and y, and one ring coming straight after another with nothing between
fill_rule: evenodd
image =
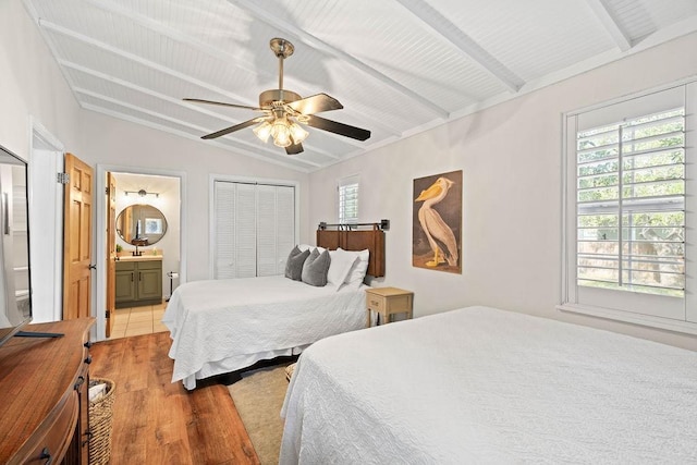
<instances>
[{"instance_id":1,"label":"tall white-framed doorway between wall mirror and open wooden door","mask_svg":"<svg viewBox=\"0 0 697 465\"><path fill-rule=\"evenodd\" d=\"M34 322L63 318L63 185L56 179L63 171L63 144L29 117L29 266Z\"/></svg>"}]
</instances>

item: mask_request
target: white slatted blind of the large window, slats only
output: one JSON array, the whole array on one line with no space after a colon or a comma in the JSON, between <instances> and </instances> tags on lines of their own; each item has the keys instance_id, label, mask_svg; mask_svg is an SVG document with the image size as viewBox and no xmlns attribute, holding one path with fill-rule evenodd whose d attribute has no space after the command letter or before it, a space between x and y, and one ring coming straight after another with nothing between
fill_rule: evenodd
<instances>
[{"instance_id":1,"label":"white slatted blind of the large window, slats only","mask_svg":"<svg viewBox=\"0 0 697 465\"><path fill-rule=\"evenodd\" d=\"M577 283L683 296L685 109L577 133Z\"/></svg>"}]
</instances>

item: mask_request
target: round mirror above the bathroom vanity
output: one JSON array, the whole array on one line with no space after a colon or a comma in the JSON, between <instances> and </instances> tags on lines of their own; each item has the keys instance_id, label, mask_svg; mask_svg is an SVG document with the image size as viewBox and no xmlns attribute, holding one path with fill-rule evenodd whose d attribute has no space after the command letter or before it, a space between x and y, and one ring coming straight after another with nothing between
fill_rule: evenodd
<instances>
[{"instance_id":1,"label":"round mirror above the bathroom vanity","mask_svg":"<svg viewBox=\"0 0 697 465\"><path fill-rule=\"evenodd\" d=\"M129 244L151 245L161 240L166 232L164 215L151 205L131 205L117 218L117 233Z\"/></svg>"}]
</instances>

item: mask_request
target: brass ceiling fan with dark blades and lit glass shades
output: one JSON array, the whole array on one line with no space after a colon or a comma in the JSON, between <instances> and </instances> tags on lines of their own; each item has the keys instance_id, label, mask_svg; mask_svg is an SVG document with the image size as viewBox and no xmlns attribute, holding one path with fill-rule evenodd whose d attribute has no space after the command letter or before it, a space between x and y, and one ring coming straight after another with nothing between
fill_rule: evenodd
<instances>
[{"instance_id":1,"label":"brass ceiling fan with dark blades and lit glass shades","mask_svg":"<svg viewBox=\"0 0 697 465\"><path fill-rule=\"evenodd\" d=\"M269 136L278 147L285 148L288 155L303 151L303 140L308 136L301 124L306 124L318 130L328 131L357 140L366 140L370 137L370 131L360 127L350 126L337 121L326 120L316 113L344 108L339 100L327 94L317 94L303 98L294 91L283 88L283 60L293 54L295 47L285 39L273 38L269 42L271 51L279 59L279 88L265 90L259 94L259 107L248 107L245 105L225 103L222 101L201 100L198 98L185 98L186 101L198 103L219 105L222 107L244 108L264 113L261 117L253 118L234 126L207 134L204 139L212 139L225 134L243 130L257 124L254 133L261 140L267 142ZM299 123L299 124L298 124Z\"/></svg>"}]
</instances>

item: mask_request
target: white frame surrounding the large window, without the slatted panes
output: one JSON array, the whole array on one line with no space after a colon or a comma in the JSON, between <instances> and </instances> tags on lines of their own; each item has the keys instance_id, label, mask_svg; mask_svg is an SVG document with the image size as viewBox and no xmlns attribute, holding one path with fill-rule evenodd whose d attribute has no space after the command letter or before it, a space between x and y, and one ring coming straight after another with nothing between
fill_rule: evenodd
<instances>
[{"instance_id":1,"label":"white frame surrounding the large window, without the slatted panes","mask_svg":"<svg viewBox=\"0 0 697 465\"><path fill-rule=\"evenodd\" d=\"M665 299L678 297L663 297L651 294L639 294L627 291L598 290L595 296L604 295L601 299L585 298L585 290L576 283L576 122L579 115L596 110L616 106L633 100L641 105L646 101L659 100L659 93L674 89L685 96L685 296L680 298L682 315L665 314ZM619 106L617 106L619 107ZM567 112L563 114L563 224L562 224L562 303L558 309L585 315L632 322L652 328L667 329L676 332L697 334L697 78L685 79L672 85L650 89L636 95L619 98L594 107ZM634 117L634 115L632 115ZM620 120L617 120L620 121ZM580 292L579 292L580 290ZM587 290L587 287L586 287ZM588 295L588 294L586 294ZM591 303L589 303L591 302ZM673 302L674 303L674 302ZM636 311L627 310L636 308ZM620 309L622 308L622 309ZM662 315L663 314L663 315Z\"/></svg>"}]
</instances>

